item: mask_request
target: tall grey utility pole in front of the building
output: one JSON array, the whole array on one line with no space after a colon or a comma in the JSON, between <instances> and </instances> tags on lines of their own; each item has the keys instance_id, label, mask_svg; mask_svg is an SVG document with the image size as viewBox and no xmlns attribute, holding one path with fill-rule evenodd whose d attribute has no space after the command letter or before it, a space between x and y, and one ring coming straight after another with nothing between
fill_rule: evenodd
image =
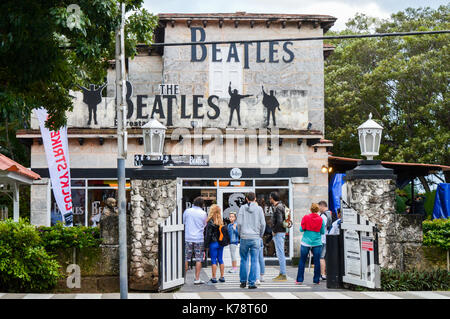
<instances>
[{"instance_id":1,"label":"tall grey utility pole in front of the building","mask_svg":"<svg viewBox=\"0 0 450 319\"><path fill-rule=\"evenodd\" d=\"M117 179L119 207L119 268L120 299L128 299L127 269L127 212L125 197L125 159L127 157L127 132L125 120L125 4L120 3L121 22L116 29L116 116L117 116Z\"/></svg>"}]
</instances>

